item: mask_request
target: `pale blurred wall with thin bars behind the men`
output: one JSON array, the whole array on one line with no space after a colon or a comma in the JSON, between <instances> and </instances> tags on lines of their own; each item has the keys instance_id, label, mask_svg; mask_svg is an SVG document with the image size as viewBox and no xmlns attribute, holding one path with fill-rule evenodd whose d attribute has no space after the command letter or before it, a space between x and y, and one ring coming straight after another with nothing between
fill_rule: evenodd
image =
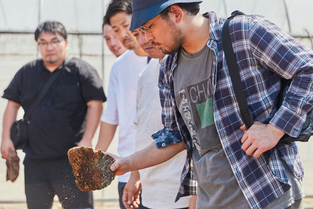
<instances>
[{"instance_id":1,"label":"pale blurred wall with thin bars behind the men","mask_svg":"<svg viewBox=\"0 0 313 209\"><path fill-rule=\"evenodd\" d=\"M105 93L110 68L115 56L107 48L102 36L102 18L109 0L0 0L0 92L8 86L15 73L27 62L40 55L33 32L38 24L56 20L64 24L69 35L69 55L79 57L92 65L102 78ZM203 0L200 12L214 11L220 17L228 17L234 10L246 14L262 14L304 45L313 48L313 3L311 0ZM0 93L1 95L3 93ZM0 127L7 100L0 99ZM104 108L106 103L104 103ZM18 118L23 117L23 110ZM97 143L95 133L93 146ZM0 139L1 140L1 139ZM151 141L152 142L152 141ZM117 154L118 138L115 136L108 151ZM303 179L306 196L313 196L313 139L298 143L305 166ZM20 175L12 182L5 181L5 160L0 159L0 202L25 201L23 158L20 157ZM177 188L178 189L178 188ZM95 200L118 199L117 180L107 188L94 192Z\"/></svg>"}]
</instances>

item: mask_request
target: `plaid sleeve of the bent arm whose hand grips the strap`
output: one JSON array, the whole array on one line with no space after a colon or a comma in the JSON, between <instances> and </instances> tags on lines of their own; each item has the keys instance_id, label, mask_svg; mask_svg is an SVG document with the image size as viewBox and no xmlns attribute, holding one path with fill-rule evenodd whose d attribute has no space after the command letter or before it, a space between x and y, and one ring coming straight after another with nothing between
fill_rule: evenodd
<instances>
[{"instance_id":1,"label":"plaid sleeve of the bent arm whose hand grips the strap","mask_svg":"<svg viewBox=\"0 0 313 209\"><path fill-rule=\"evenodd\" d=\"M260 65L293 80L283 105L269 123L297 137L313 106L313 51L263 16L251 20L249 39Z\"/></svg>"}]
</instances>

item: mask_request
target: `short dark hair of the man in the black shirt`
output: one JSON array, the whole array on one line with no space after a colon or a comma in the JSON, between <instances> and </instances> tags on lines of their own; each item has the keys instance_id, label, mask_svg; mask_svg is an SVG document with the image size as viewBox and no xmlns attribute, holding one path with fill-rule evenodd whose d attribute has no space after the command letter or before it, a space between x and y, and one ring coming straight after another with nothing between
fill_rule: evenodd
<instances>
[{"instance_id":1,"label":"short dark hair of the man in the black shirt","mask_svg":"<svg viewBox=\"0 0 313 209\"><path fill-rule=\"evenodd\" d=\"M36 41L38 39L38 36L43 32L60 34L61 36L63 36L64 39L67 39L67 32L64 25L56 21L46 21L44 23L40 23L35 31Z\"/></svg>"}]
</instances>

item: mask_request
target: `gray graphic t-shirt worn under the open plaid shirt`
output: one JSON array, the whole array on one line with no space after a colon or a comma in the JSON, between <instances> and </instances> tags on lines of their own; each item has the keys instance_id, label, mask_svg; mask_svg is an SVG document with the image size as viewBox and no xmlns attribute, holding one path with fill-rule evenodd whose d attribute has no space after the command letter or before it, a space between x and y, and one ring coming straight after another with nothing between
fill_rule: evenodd
<instances>
[{"instance_id":1,"label":"gray graphic t-shirt worn under the open plaid shirt","mask_svg":"<svg viewBox=\"0 0 313 209\"><path fill-rule=\"evenodd\" d=\"M204 46L196 54L182 48L174 71L177 108L194 143L193 171L198 182L197 208L250 208L233 174L214 124L213 50ZM265 208L281 209L304 196L302 180L296 179L283 161L292 189Z\"/></svg>"}]
</instances>

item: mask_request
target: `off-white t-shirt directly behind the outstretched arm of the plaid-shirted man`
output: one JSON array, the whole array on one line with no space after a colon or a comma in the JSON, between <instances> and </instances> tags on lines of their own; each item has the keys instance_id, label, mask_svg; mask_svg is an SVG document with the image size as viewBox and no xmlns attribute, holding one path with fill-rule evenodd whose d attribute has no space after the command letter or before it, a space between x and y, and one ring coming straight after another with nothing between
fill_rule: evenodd
<instances>
[{"instance_id":1,"label":"off-white t-shirt directly behind the outstretched arm of the plaid-shirted man","mask_svg":"<svg viewBox=\"0 0 313 209\"><path fill-rule=\"evenodd\" d=\"M139 75L135 121L136 151L153 143L151 135L163 128L158 88L159 69L159 60L151 59ZM175 203L186 155L184 150L167 162L139 170L143 206L152 209L188 207L191 196L182 197Z\"/></svg>"}]
</instances>

